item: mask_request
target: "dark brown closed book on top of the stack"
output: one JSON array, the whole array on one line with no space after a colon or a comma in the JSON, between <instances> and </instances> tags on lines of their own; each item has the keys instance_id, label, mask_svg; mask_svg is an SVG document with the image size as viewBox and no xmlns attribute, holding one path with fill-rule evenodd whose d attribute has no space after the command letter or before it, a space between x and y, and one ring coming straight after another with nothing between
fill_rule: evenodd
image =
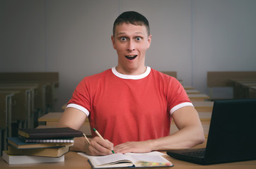
<instances>
[{"instance_id":1,"label":"dark brown closed book on top of the stack","mask_svg":"<svg viewBox=\"0 0 256 169\"><path fill-rule=\"evenodd\" d=\"M66 139L83 137L83 132L69 127L19 129L18 134L27 139Z\"/></svg>"}]
</instances>

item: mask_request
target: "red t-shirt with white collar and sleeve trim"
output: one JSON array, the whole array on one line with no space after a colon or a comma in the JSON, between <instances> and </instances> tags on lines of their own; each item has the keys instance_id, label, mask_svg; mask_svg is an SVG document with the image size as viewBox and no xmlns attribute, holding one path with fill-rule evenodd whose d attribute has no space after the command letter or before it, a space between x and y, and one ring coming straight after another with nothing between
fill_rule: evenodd
<instances>
[{"instance_id":1,"label":"red t-shirt with white collar and sleeve trim","mask_svg":"<svg viewBox=\"0 0 256 169\"><path fill-rule=\"evenodd\" d=\"M85 77L67 107L86 113L91 129L117 145L169 135L171 113L183 106L192 103L180 82L147 67L142 75L112 68Z\"/></svg>"}]
</instances>

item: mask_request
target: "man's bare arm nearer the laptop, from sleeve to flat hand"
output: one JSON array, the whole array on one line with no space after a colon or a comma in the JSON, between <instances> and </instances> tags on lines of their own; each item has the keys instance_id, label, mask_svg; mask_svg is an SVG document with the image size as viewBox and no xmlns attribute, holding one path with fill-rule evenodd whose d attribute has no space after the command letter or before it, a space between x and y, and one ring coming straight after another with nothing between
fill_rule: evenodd
<instances>
[{"instance_id":1,"label":"man's bare arm nearer the laptop, from sleeve to flat hand","mask_svg":"<svg viewBox=\"0 0 256 169\"><path fill-rule=\"evenodd\" d=\"M154 150L189 149L204 142L204 131L197 111L192 106L185 106L173 113L173 120L179 131L166 137L144 142L127 142L114 147L114 151L149 152Z\"/></svg>"}]
</instances>

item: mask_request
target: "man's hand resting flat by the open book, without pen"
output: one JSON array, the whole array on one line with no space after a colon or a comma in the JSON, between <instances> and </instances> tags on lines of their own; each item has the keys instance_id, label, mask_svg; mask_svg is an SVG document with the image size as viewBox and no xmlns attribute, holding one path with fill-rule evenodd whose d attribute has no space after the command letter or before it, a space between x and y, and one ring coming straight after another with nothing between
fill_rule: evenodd
<instances>
[{"instance_id":1,"label":"man's hand resting flat by the open book, without pen","mask_svg":"<svg viewBox=\"0 0 256 169\"><path fill-rule=\"evenodd\" d=\"M114 147L115 153L148 153L153 151L151 140L143 142L125 142Z\"/></svg>"}]
</instances>

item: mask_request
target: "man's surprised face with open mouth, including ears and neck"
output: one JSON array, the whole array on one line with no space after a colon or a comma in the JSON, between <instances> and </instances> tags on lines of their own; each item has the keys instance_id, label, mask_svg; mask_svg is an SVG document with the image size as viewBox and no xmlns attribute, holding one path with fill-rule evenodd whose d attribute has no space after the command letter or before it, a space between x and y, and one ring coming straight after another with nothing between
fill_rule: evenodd
<instances>
[{"instance_id":1,"label":"man's surprised face with open mouth, including ears and neck","mask_svg":"<svg viewBox=\"0 0 256 169\"><path fill-rule=\"evenodd\" d=\"M129 75L144 73L146 49L151 44L146 26L122 23L115 27L115 37L111 39L118 55L117 71Z\"/></svg>"}]
</instances>

